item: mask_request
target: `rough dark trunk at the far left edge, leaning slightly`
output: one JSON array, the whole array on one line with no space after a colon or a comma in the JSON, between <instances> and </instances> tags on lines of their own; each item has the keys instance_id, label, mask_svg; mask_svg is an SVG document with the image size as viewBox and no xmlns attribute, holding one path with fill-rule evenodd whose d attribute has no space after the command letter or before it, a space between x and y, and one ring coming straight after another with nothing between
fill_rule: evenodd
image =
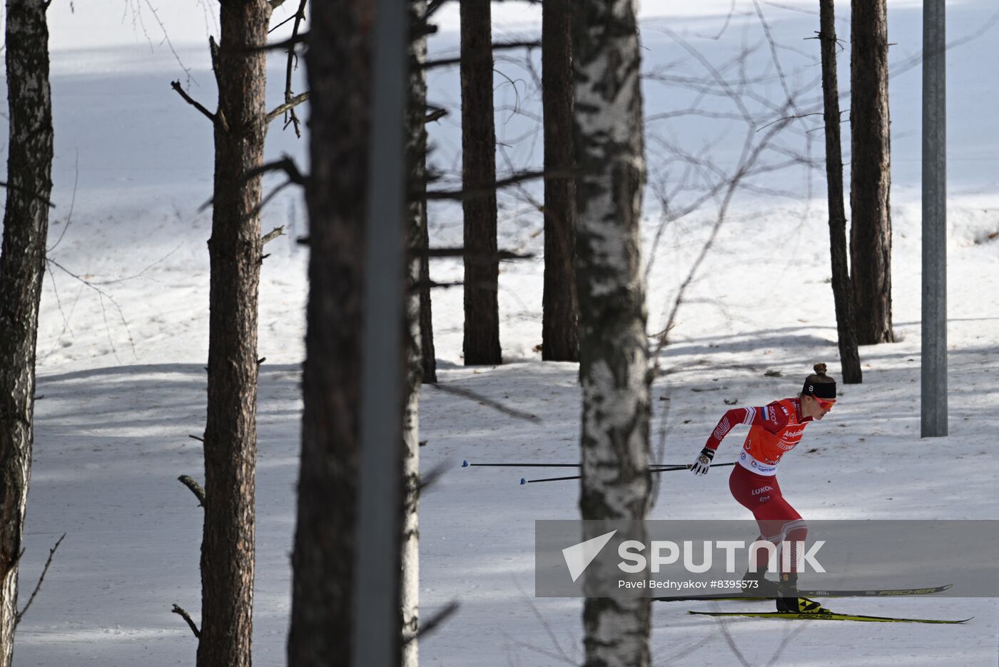
<instances>
[{"instance_id":1,"label":"rough dark trunk at the far left edge, leaning slightly","mask_svg":"<svg viewBox=\"0 0 999 667\"><path fill-rule=\"evenodd\" d=\"M35 344L52 192L48 2L8 0L7 204L0 255L0 667L17 627L18 561L34 440Z\"/></svg>"}]
</instances>

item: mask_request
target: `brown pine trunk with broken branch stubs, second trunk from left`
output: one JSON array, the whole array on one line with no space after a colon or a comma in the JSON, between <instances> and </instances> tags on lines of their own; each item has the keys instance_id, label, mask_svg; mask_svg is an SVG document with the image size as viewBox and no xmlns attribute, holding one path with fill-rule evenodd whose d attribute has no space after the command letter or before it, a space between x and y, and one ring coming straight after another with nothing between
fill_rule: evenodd
<instances>
[{"instance_id":1,"label":"brown pine trunk with broken branch stubs, second trunk from left","mask_svg":"<svg viewBox=\"0 0 999 667\"><path fill-rule=\"evenodd\" d=\"M205 527L198 667L249 667L257 465L257 301L267 108L267 0L224 0L215 62Z\"/></svg>"}]
</instances>

